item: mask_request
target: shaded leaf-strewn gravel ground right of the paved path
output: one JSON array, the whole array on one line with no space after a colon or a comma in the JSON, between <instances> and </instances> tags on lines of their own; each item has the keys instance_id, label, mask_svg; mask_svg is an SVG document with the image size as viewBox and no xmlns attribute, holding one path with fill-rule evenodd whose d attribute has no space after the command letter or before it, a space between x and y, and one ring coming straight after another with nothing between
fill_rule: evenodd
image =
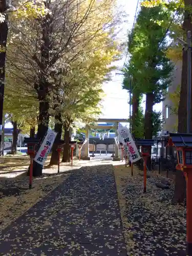
<instances>
[{"instance_id":1,"label":"shaded leaf-strewn gravel ground right of the paved path","mask_svg":"<svg viewBox=\"0 0 192 256\"><path fill-rule=\"evenodd\" d=\"M143 177L134 166L115 166L115 177L127 255L186 255L186 208L173 205L173 182L169 189L156 187L162 177L147 179L143 194Z\"/></svg>"}]
</instances>

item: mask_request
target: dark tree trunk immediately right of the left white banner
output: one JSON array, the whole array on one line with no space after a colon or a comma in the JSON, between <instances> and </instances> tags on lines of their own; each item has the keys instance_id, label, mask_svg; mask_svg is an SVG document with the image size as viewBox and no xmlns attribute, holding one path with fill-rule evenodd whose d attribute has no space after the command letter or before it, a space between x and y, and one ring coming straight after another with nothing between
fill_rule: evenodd
<instances>
[{"instance_id":1,"label":"dark tree trunk immediately right of the left white banner","mask_svg":"<svg viewBox=\"0 0 192 256\"><path fill-rule=\"evenodd\" d=\"M55 138L55 143L52 147L51 160L49 165L57 165L58 164L58 152L57 152L57 141L61 139L62 134L62 123L61 123L61 114L55 116L55 132L57 136Z\"/></svg>"}]
</instances>

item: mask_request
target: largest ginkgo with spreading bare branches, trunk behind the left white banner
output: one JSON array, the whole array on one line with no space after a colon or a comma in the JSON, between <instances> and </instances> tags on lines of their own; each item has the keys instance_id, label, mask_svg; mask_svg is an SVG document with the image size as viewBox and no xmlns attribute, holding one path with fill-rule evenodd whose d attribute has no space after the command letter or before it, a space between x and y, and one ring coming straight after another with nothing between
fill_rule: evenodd
<instances>
[{"instance_id":1,"label":"largest ginkgo with spreading bare branches, trunk behind the left white banner","mask_svg":"<svg viewBox=\"0 0 192 256\"><path fill-rule=\"evenodd\" d=\"M97 37L112 40L120 18L114 13L115 0L59 0L44 4L49 10L45 16L23 22L14 19L10 33L12 51L8 58L15 79L24 80L36 91L39 140L44 138L49 126L50 105L55 102L53 92L57 95L60 88L59 77L70 76L71 63L77 58L81 63L97 51ZM114 47L112 41L102 47L108 46ZM102 48L101 44L98 47ZM41 174L39 166L34 164L34 169L35 175Z\"/></svg>"}]
</instances>

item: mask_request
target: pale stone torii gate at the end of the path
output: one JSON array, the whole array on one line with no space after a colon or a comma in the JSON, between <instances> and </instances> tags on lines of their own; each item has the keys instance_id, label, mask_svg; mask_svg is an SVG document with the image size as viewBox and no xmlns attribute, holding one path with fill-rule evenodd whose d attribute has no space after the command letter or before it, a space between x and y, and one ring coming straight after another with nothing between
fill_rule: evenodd
<instances>
[{"instance_id":1,"label":"pale stone torii gate at the end of the path","mask_svg":"<svg viewBox=\"0 0 192 256\"><path fill-rule=\"evenodd\" d=\"M86 138L89 138L89 131L90 129L114 129L116 132L116 136L118 137L117 130L119 127L119 123L129 123L128 119L110 119L110 118L99 118L97 122L109 122L109 123L114 123L114 125L89 125L86 124ZM89 140L88 142L84 145L84 156L82 157L83 160L90 160L89 156ZM113 158L114 161L119 161L119 148L115 144L115 157Z\"/></svg>"}]
</instances>

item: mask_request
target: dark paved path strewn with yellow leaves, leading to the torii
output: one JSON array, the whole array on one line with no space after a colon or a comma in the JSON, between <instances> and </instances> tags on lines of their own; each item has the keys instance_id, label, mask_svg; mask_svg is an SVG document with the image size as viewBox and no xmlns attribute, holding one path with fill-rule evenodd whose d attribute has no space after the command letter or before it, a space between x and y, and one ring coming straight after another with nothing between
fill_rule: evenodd
<instances>
[{"instance_id":1,"label":"dark paved path strewn with yellow leaves, leading to the torii","mask_svg":"<svg viewBox=\"0 0 192 256\"><path fill-rule=\"evenodd\" d=\"M125 256L112 165L83 167L0 236L0 255Z\"/></svg>"}]
</instances>

